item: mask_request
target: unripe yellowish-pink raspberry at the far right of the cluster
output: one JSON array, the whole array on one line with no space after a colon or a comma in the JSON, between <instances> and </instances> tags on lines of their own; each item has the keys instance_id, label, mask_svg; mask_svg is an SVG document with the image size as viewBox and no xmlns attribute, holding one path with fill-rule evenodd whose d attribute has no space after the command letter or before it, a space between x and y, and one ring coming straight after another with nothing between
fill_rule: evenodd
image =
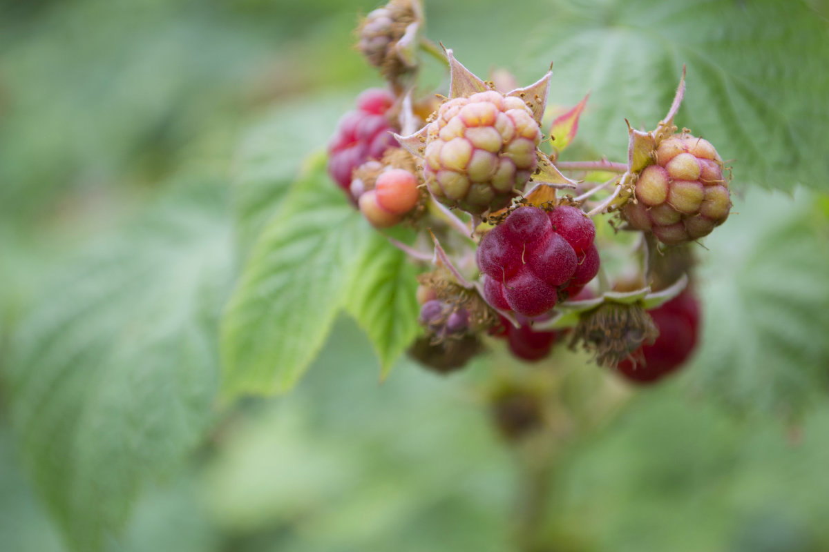
<instances>
[{"instance_id":1,"label":"unripe yellowish-pink raspberry at the far right of the cluster","mask_svg":"<svg viewBox=\"0 0 829 552\"><path fill-rule=\"evenodd\" d=\"M657 163L639 173L624 217L638 230L651 230L667 245L707 236L731 209L723 162L710 142L689 134L662 140Z\"/></svg>"}]
</instances>

